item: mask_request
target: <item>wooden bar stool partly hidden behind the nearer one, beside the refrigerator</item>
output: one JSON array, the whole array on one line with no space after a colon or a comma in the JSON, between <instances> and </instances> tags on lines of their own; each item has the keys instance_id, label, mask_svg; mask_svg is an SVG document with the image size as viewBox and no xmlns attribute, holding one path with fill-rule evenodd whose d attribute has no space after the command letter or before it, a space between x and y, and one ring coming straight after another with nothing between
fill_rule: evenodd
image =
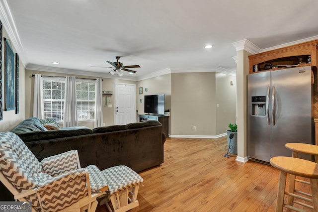
<instances>
[{"instance_id":1,"label":"wooden bar stool partly hidden behind the nearer one, beside the refrigerator","mask_svg":"<svg viewBox=\"0 0 318 212\"><path fill-rule=\"evenodd\" d=\"M318 146L316 146L316 145L307 144L307 143L287 143L287 144L285 144L285 147L287 149L290 149L293 151L293 157L295 157L295 158L298 158L298 153L301 152L301 153L305 153L305 154L309 154L309 155L314 155L315 161L318 162ZM288 192L302 194L302 195L305 195L305 196L310 197L310 198L312 197L311 194L307 194L307 193L295 190L295 182L310 185L310 182L297 179L295 175L290 175L289 176ZM294 202L294 197L288 196L287 205L292 205L293 203L297 203L300 205L303 204L303 203L296 202L296 201ZM290 210L287 210L287 212L290 212Z\"/></svg>"}]
</instances>

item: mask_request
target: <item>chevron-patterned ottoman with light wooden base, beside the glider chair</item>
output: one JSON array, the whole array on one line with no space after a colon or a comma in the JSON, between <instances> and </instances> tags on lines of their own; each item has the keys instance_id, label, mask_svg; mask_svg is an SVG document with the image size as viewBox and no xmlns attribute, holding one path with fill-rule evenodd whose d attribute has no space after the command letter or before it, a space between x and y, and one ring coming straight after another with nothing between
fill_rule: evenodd
<instances>
[{"instance_id":1,"label":"chevron-patterned ottoman with light wooden base, beside the glider chair","mask_svg":"<svg viewBox=\"0 0 318 212\"><path fill-rule=\"evenodd\" d=\"M108 198L100 201L111 212L126 212L137 206L139 185L144 179L131 168L121 165L101 171L108 182ZM113 210L108 202L111 201Z\"/></svg>"}]
</instances>

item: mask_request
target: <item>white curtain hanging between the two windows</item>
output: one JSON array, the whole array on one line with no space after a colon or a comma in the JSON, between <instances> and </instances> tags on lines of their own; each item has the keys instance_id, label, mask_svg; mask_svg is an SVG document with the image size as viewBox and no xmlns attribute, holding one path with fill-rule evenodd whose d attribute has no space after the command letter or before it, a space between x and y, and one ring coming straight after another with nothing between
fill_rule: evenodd
<instances>
[{"instance_id":1,"label":"white curtain hanging between the two windows","mask_svg":"<svg viewBox=\"0 0 318 212\"><path fill-rule=\"evenodd\" d=\"M63 127L77 125L76 78L74 76L66 76Z\"/></svg>"}]
</instances>

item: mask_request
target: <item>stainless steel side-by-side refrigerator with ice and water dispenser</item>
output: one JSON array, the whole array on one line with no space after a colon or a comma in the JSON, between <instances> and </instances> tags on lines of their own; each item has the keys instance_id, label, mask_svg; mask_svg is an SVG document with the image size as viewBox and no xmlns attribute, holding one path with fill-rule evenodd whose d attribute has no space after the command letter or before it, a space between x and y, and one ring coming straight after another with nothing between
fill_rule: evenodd
<instances>
[{"instance_id":1,"label":"stainless steel side-by-side refrigerator with ice and water dispenser","mask_svg":"<svg viewBox=\"0 0 318 212\"><path fill-rule=\"evenodd\" d=\"M311 66L248 75L247 156L292 156L286 143L312 143Z\"/></svg>"}]
</instances>

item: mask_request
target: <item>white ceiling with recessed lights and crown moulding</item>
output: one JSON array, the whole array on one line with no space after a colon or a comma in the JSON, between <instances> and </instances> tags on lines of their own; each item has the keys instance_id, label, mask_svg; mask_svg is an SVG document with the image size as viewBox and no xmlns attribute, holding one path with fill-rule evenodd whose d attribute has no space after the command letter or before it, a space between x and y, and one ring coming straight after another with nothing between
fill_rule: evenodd
<instances>
[{"instance_id":1,"label":"white ceiling with recessed lights and crown moulding","mask_svg":"<svg viewBox=\"0 0 318 212\"><path fill-rule=\"evenodd\" d=\"M124 66L141 66L122 78L138 79L162 70L234 71L232 43L266 49L316 38L317 8L317 0L0 0L0 18L28 69L111 77L110 68L90 66L122 56Z\"/></svg>"}]
</instances>

